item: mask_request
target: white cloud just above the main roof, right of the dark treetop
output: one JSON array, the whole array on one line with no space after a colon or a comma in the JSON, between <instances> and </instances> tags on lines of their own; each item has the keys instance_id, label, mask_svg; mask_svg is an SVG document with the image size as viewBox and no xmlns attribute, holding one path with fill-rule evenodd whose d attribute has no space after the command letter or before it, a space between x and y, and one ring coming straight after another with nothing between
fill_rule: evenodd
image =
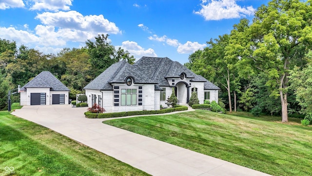
<instances>
[{"instance_id":1,"label":"white cloud just above the main roof, right of the dark treetop","mask_svg":"<svg viewBox=\"0 0 312 176\"><path fill-rule=\"evenodd\" d=\"M117 48L119 46L116 46ZM128 50L131 55L133 55L135 58L141 58L142 56L150 56L150 57L157 57L157 54L155 53L154 49L148 48L144 49L140 45L138 45L136 42L133 41L124 41L122 42L121 46L122 49Z\"/></svg>"}]
</instances>

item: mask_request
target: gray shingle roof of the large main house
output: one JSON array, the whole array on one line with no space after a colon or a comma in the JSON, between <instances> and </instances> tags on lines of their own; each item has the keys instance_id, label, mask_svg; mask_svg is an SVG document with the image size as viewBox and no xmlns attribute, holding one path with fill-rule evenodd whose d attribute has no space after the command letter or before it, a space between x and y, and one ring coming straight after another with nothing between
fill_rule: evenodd
<instances>
[{"instance_id":1,"label":"gray shingle roof of the large main house","mask_svg":"<svg viewBox=\"0 0 312 176\"><path fill-rule=\"evenodd\" d=\"M187 67L167 57L142 57L134 65L130 65L126 61L115 63L84 89L113 90L111 83L125 83L126 77L132 76L135 83L157 84L155 89L161 90L159 86L170 86L166 78L178 78L182 72L186 74L187 78L191 78L191 82L205 82L207 85L205 89L219 89L204 77L196 75ZM208 83L206 84L206 82Z\"/></svg>"}]
</instances>

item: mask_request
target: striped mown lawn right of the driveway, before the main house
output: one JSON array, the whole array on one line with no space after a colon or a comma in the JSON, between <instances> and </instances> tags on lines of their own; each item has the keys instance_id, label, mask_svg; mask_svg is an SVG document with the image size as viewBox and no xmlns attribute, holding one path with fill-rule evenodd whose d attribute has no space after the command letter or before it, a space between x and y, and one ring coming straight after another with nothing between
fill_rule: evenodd
<instances>
[{"instance_id":1,"label":"striped mown lawn right of the driveway, before the main house","mask_svg":"<svg viewBox=\"0 0 312 176\"><path fill-rule=\"evenodd\" d=\"M312 176L311 126L236 115L196 110L103 123L271 175Z\"/></svg>"}]
</instances>

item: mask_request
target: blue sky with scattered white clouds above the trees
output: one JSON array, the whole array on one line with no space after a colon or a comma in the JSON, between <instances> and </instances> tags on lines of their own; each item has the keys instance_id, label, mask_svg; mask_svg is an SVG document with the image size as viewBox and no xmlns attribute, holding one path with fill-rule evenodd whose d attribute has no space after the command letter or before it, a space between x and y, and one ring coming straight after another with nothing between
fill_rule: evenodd
<instances>
[{"instance_id":1,"label":"blue sky with scattered white clouds above the trees","mask_svg":"<svg viewBox=\"0 0 312 176\"><path fill-rule=\"evenodd\" d=\"M43 53L109 34L135 58L181 64L269 0L0 0L0 38Z\"/></svg>"}]
</instances>

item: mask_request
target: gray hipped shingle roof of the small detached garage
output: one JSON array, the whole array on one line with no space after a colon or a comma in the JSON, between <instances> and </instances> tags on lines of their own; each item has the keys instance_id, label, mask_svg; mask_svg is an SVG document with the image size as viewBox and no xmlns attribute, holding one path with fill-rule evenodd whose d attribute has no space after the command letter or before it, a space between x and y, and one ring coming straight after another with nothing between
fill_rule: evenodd
<instances>
[{"instance_id":1,"label":"gray hipped shingle roof of the small detached garage","mask_svg":"<svg viewBox=\"0 0 312 176\"><path fill-rule=\"evenodd\" d=\"M49 71L42 71L20 90L26 91L26 88L50 88L52 91L70 91Z\"/></svg>"}]
</instances>

